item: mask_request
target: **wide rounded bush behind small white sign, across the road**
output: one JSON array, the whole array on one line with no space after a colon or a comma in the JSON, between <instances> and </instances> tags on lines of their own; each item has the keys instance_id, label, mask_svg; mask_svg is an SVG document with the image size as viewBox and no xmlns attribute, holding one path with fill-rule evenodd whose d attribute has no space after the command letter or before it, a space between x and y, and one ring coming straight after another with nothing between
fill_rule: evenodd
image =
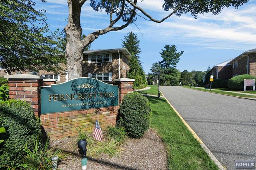
<instances>
[{"instance_id":1,"label":"wide rounded bush behind small white sign, across the road","mask_svg":"<svg viewBox=\"0 0 256 170\"><path fill-rule=\"evenodd\" d=\"M228 88L231 90L244 90L244 79L256 79L256 76L243 74L228 80Z\"/></svg>"}]
</instances>

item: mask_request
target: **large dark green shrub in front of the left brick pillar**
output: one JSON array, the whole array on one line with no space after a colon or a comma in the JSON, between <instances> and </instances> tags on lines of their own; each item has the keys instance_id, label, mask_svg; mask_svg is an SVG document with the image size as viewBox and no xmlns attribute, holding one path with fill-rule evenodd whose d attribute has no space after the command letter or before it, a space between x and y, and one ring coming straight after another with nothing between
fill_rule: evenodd
<instances>
[{"instance_id":1,"label":"large dark green shrub in front of the left brick pillar","mask_svg":"<svg viewBox=\"0 0 256 170\"><path fill-rule=\"evenodd\" d=\"M6 133L0 133L0 139L4 139L0 144L0 167L19 165L25 147L32 149L34 140L42 137L39 119L25 101L0 101L0 126L6 129Z\"/></svg>"}]
</instances>

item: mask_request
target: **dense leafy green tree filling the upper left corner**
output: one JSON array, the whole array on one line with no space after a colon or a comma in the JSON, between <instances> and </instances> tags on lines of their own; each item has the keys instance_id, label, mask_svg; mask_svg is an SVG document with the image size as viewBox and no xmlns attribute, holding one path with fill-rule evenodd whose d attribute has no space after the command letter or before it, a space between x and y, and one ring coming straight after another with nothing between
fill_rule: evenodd
<instances>
[{"instance_id":1,"label":"dense leafy green tree filling the upper left corner","mask_svg":"<svg viewBox=\"0 0 256 170\"><path fill-rule=\"evenodd\" d=\"M58 63L66 62L63 47L58 43L61 35L58 30L50 33L45 11L35 10L34 6L31 0L0 1L0 64L8 73L27 70L60 73L62 67Z\"/></svg>"}]
</instances>

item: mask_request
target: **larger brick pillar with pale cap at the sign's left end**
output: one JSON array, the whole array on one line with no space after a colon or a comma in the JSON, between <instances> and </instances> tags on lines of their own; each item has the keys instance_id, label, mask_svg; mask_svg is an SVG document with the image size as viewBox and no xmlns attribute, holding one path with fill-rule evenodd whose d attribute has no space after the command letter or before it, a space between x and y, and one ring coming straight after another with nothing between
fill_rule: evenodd
<instances>
[{"instance_id":1,"label":"larger brick pillar with pale cap at the sign's left end","mask_svg":"<svg viewBox=\"0 0 256 170\"><path fill-rule=\"evenodd\" d=\"M25 100L30 103L34 114L39 117L41 111L40 86L43 86L45 78L31 74L5 75L4 78L8 78L9 98Z\"/></svg>"}]
</instances>

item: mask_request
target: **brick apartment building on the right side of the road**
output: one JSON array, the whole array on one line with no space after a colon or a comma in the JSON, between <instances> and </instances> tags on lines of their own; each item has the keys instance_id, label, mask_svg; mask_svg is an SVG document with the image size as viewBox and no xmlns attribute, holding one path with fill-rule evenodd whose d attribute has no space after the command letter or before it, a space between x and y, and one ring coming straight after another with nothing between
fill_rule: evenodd
<instances>
[{"instance_id":1,"label":"brick apartment building on the right side of the road","mask_svg":"<svg viewBox=\"0 0 256 170\"><path fill-rule=\"evenodd\" d=\"M215 78L229 80L242 74L256 76L256 49L245 51L234 59L216 64L211 69Z\"/></svg>"}]
</instances>

